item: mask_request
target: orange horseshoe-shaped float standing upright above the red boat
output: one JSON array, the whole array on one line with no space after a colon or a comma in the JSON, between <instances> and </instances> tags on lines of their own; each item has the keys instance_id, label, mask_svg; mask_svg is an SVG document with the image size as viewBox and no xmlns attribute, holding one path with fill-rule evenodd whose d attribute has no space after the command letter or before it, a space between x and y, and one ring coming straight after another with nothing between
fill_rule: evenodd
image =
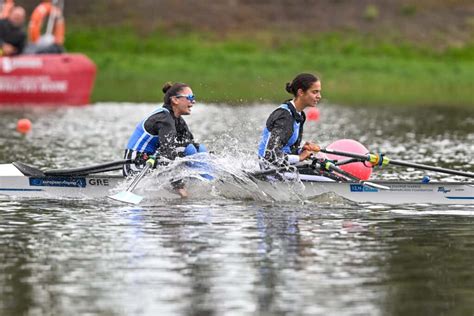
<instances>
[{"instance_id":1,"label":"orange horseshoe-shaped float standing upright above the red boat","mask_svg":"<svg viewBox=\"0 0 474 316\"><path fill-rule=\"evenodd\" d=\"M36 43L41 37L41 28L43 23L48 22L50 14L55 15L55 22L53 27L53 36L54 43L63 45L64 44L64 35L66 32L66 24L64 22L64 17L59 9L56 6L53 6L50 2L43 2L38 5L33 13L31 14L30 24L28 26L28 38L30 42Z\"/></svg>"}]
</instances>

